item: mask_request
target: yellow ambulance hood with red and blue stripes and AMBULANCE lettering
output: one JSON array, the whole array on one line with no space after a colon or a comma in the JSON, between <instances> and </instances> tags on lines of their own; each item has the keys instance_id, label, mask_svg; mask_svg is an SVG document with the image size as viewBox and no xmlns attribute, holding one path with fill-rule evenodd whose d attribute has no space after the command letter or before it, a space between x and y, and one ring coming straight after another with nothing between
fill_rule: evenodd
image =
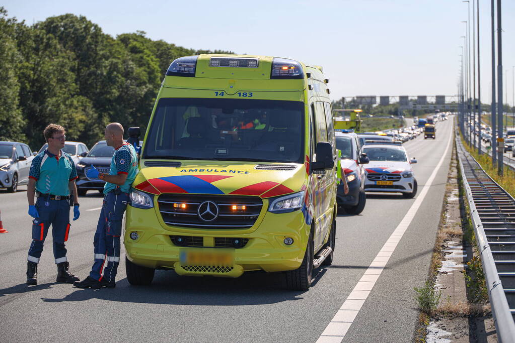
<instances>
[{"instance_id":1,"label":"yellow ambulance hood with red and blue stripes and AMBULANCE lettering","mask_svg":"<svg viewBox=\"0 0 515 343\"><path fill-rule=\"evenodd\" d=\"M159 162L152 160L152 163ZM141 161L142 169L132 186L155 195L231 194L270 198L299 192L306 180L305 166L294 163L182 161L178 167L145 167L144 164Z\"/></svg>"}]
</instances>

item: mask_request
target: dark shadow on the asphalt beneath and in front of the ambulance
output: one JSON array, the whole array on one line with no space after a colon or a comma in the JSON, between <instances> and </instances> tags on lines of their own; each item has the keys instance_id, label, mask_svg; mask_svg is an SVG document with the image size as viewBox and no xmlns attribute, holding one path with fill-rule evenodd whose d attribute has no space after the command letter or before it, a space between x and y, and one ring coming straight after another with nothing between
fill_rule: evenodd
<instances>
[{"instance_id":1,"label":"dark shadow on the asphalt beneath and in front of the ambulance","mask_svg":"<svg viewBox=\"0 0 515 343\"><path fill-rule=\"evenodd\" d=\"M327 272L314 271L312 286ZM150 286L131 286L127 278L116 281L115 289L78 289L71 285L64 298L42 298L45 302L102 299L120 302L192 306L242 306L300 300L304 291L285 290L283 273L247 273L236 279L179 276L174 271L156 271ZM2 291L0 291L2 292ZM1 293L0 293L1 294Z\"/></svg>"}]
</instances>

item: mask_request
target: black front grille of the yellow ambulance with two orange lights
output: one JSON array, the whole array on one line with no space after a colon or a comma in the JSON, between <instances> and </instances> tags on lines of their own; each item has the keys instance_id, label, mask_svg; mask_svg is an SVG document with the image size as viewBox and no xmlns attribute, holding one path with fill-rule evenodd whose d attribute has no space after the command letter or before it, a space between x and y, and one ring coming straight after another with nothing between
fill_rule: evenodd
<instances>
[{"instance_id":1,"label":"black front grille of the yellow ambulance with two orange lights","mask_svg":"<svg viewBox=\"0 0 515 343\"><path fill-rule=\"evenodd\" d=\"M199 216L198 208L204 201L211 201L218 208L218 215L211 221L202 220ZM166 224L202 230L252 227L263 207L259 197L215 194L161 194L158 204ZM185 208L182 205L174 207L174 204L184 204ZM245 206L245 210L233 211L233 206ZM212 211L215 209L212 208Z\"/></svg>"}]
</instances>

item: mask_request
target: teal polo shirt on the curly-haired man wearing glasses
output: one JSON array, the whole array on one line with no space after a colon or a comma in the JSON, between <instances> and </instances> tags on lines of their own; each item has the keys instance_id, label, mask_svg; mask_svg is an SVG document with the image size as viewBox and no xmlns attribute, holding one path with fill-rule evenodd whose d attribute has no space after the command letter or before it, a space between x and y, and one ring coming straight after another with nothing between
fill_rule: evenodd
<instances>
[{"instance_id":1,"label":"teal polo shirt on the curly-haired man wearing glasses","mask_svg":"<svg viewBox=\"0 0 515 343\"><path fill-rule=\"evenodd\" d=\"M43 194L66 196L70 195L68 183L77 179L77 169L62 149L60 158L45 149L32 160L29 178L36 180L36 190Z\"/></svg>"}]
</instances>

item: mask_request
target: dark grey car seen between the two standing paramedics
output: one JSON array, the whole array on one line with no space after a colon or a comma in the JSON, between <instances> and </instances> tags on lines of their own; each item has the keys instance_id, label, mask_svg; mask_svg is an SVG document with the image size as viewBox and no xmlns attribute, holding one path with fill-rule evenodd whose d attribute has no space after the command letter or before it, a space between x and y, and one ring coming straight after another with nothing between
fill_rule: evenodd
<instances>
[{"instance_id":1,"label":"dark grey car seen between the two standing paramedics","mask_svg":"<svg viewBox=\"0 0 515 343\"><path fill-rule=\"evenodd\" d=\"M142 144L143 141L140 141L140 146ZM86 172L93 164L98 172L109 174L114 151L114 148L107 145L105 140L98 141L93 145L91 150L81 158L79 163L75 165L78 177L75 183L77 185L77 193L80 196L86 195L88 190L97 190L99 193L104 192L104 185L106 182L98 178L90 178L86 175Z\"/></svg>"}]
</instances>

